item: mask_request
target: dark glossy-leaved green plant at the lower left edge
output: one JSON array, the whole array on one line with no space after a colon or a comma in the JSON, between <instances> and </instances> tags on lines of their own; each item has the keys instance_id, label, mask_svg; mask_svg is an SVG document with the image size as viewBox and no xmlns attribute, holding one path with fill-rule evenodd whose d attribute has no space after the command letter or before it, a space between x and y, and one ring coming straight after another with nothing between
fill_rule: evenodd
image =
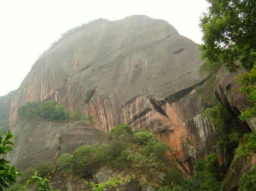
<instances>
[{"instance_id":1,"label":"dark glossy-leaved green plant at the lower left edge","mask_svg":"<svg viewBox=\"0 0 256 191\"><path fill-rule=\"evenodd\" d=\"M19 175L17 169L9 161L4 159L5 154L13 150L14 143L11 141L14 136L11 131L0 135L0 188L7 188L13 185Z\"/></svg>"}]
</instances>

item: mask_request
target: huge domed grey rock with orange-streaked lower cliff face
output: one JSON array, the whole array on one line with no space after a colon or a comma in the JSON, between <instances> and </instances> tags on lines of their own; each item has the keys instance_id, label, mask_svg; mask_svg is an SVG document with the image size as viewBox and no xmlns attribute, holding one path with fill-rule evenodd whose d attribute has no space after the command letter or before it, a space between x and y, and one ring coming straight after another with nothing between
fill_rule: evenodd
<instances>
[{"instance_id":1,"label":"huge domed grey rock with orange-streaked lower cliff face","mask_svg":"<svg viewBox=\"0 0 256 191\"><path fill-rule=\"evenodd\" d=\"M30 128L43 124L17 124L18 108L55 99L93 115L94 128L100 131L108 132L121 122L134 129L147 127L171 145L173 156L193 173L195 159L213 152L215 142L212 124L203 118L207 103L195 90L204 83L198 74L197 46L169 23L148 16L93 21L63 37L33 65L7 103L10 127L17 136L28 136ZM54 135L50 128L39 129L31 131L42 136L38 145L49 135L54 141L60 137L59 128ZM26 145L26 136L18 141ZM47 146L37 151L42 148ZM22 163L26 154L16 150L20 154L14 154L13 162Z\"/></svg>"}]
</instances>

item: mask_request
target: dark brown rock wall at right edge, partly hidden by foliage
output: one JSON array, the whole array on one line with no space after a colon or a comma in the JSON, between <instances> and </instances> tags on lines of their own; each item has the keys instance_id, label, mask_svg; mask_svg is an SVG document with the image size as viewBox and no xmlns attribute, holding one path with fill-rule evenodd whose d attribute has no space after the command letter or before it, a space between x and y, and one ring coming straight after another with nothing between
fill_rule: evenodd
<instances>
[{"instance_id":1,"label":"dark brown rock wall at right edge, partly hidden by foliage","mask_svg":"<svg viewBox=\"0 0 256 191\"><path fill-rule=\"evenodd\" d=\"M215 79L215 94L217 94L220 101L235 118L238 118L242 111L251 106L251 104L247 102L246 95L238 91L241 84L237 83L237 77L243 72L245 71L241 70L236 73L230 73L225 68L221 68ZM240 123L245 132L256 127L255 119L250 119L246 122L240 121ZM237 190L239 179L255 162L255 156L247 161L234 157L224 178L223 183L225 188L230 191Z\"/></svg>"}]
</instances>

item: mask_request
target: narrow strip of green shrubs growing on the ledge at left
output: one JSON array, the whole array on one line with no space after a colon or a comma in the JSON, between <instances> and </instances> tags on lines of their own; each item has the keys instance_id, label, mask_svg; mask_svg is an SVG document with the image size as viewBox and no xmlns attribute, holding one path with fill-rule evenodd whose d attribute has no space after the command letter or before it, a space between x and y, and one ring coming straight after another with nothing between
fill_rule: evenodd
<instances>
[{"instance_id":1,"label":"narrow strip of green shrubs growing on the ledge at left","mask_svg":"<svg viewBox=\"0 0 256 191\"><path fill-rule=\"evenodd\" d=\"M86 120L92 122L91 115L84 115L77 111L71 112L69 109L63 109L58 102L46 101L46 102L35 102L26 103L18 109L18 115L21 119L36 119L43 118L46 120L69 120L69 121L79 121Z\"/></svg>"}]
</instances>

